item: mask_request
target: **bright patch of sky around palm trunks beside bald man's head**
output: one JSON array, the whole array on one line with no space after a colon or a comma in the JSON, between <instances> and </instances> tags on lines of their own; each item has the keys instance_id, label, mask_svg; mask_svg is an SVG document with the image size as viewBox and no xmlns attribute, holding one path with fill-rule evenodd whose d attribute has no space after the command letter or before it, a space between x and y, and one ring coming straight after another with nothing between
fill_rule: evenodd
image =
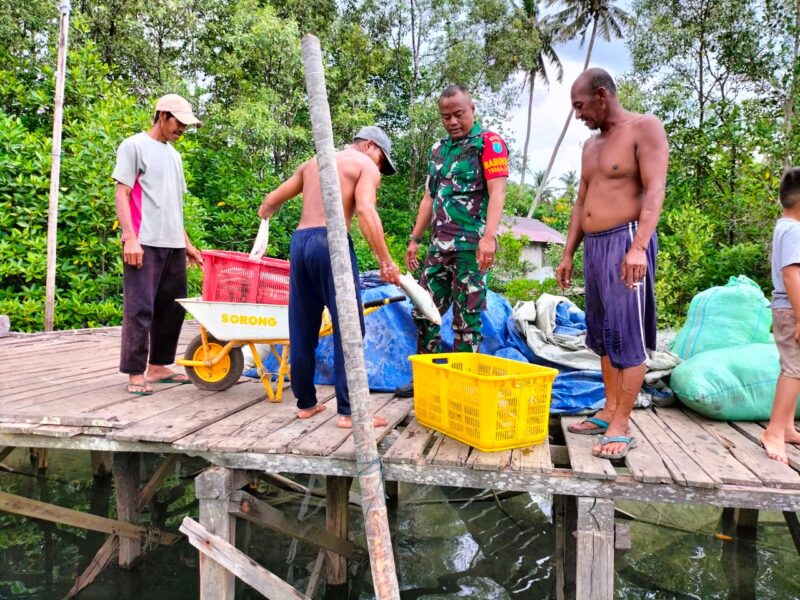
<instances>
[{"instance_id":1,"label":"bright patch of sky around palm trunks beside bald man's head","mask_svg":"<svg viewBox=\"0 0 800 600\"><path fill-rule=\"evenodd\" d=\"M555 80L555 72L549 70L548 72L551 73L549 88L545 87L541 80L536 81L533 94L531 141L528 147L527 182L532 180L535 171L544 170L547 167L550 154L570 109L569 92L572 82L580 75L586 59L586 48L580 48L578 40L558 46L556 52L564 67L564 79L562 83L558 83ZM602 39L596 40L589 66L601 67L608 71L615 80L618 79L630 71L631 67L630 53L625 42L623 40L612 40L611 42ZM510 151L517 156L522 155L522 148L525 144L527 110L528 90L526 89L520 97L519 105L503 121L503 131L513 132ZM557 187L559 176L567 171L574 170L580 173L581 147L590 135L591 132L583 123L572 119L550 173L551 185ZM511 180L519 182L520 175L519 169L516 172L512 169Z\"/></svg>"}]
</instances>

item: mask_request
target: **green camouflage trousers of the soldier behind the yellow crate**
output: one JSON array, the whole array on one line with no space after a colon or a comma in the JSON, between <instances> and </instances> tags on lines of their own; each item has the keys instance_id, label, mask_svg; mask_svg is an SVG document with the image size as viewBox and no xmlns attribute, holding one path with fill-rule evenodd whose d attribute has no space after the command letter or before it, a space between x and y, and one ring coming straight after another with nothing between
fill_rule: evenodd
<instances>
[{"instance_id":1,"label":"green camouflage trousers of the soldier behind the yellow crate","mask_svg":"<svg viewBox=\"0 0 800 600\"><path fill-rule=\"evenodd\" d=\"M486 276L478 269L474 250L442 252L431 248L419 284L433 297L439 314L453 305L453 351L477 352L481 345L481 311L486 308ZM439 325L412 311L417 325L417 351L442 351Z\"/></svg>"}]
</instances>

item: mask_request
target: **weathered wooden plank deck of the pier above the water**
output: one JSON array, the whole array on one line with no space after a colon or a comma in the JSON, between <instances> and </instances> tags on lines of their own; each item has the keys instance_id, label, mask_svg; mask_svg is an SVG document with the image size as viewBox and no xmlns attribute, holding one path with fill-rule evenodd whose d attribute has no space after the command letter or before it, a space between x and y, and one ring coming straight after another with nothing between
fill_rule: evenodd
<instances>
[{"instance_id":1,"label":"weathered wooden plank deck of the pier above the water","mask_svg":"<svg viewBox=\"0 0 800 600\"><path fill-rule=\"evenodd\" d=\"M197 333L184 327L179 352ZM355 476L353 440L329 409L300 421L293 397L265 400L243 381L223 392L157 385L133 396L117 370L118 328L0 339L0 446L201 456L230 469ZM758 444L759 423L721 423L681 408L634 411L639 447L623 462L591 456L594 436L569 434L575 417L551 421L551 443L483 453L421 427L412 403L373 394L386 416L384 476L441 486L555 495L800 510L800 448L790 465L770 460Z\"/></svg>"}]
</instances>

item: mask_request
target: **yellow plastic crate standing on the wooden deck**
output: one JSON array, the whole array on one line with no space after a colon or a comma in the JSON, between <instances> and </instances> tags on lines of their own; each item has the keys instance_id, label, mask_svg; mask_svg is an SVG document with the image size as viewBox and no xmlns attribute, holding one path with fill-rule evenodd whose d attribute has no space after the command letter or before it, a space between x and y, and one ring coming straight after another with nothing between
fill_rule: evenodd
<instances>
[{"instance_id":1,"label":"yellow plastic crate standing on the wooden deck","mask_svg":"<svg viewBox=\"0 0 800 600\"><path fill-rule=\"evenodd\" d=\"M486 354L415 354L414 412L421 425L496 452L547 438L558 371Z\"/></svg>"}]
</instances>

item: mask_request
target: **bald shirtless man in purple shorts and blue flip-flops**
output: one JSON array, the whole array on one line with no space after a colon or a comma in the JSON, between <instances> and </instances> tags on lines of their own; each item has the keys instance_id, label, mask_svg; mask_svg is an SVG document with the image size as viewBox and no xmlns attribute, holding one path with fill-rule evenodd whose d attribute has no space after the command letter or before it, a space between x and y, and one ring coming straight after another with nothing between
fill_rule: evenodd
<instances>
[{"instance_id":1,"label":"bald shirtless man in purple shorts and blue flip-flops","mask_svg":"<svg viewBox=\"0 0 800 600\"><path fill-rule=\"evenodd\" d=\"M586 344L600 355L606 404L570 431L602 434L592 454L622 458L636 443L628 418L644 380L647 349L656 345L656 225L669 148L661 122L622 108L602 69L575 80L572 106L576 119L600 133L583 147L578 198L556 279L562 288L570 285L572 256L583 240Z\"/></svg>"}]
</instances>

